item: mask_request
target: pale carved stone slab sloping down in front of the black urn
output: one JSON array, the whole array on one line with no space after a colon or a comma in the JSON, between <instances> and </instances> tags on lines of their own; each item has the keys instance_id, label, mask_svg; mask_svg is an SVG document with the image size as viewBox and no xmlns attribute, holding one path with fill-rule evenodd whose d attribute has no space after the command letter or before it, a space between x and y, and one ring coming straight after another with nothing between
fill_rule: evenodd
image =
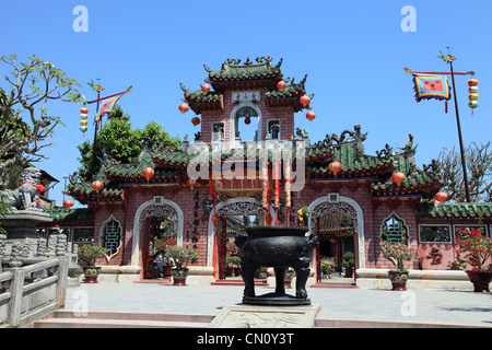
<instances>
[{"instance_id":1,"label":"pale carved stone slab sloping down in front of the black urn","mask_svg":"<svg viewBox=\"0 0 492 350\"><path fill-rule=\"evenodd\" d=\"M321 307L311 306L226 306L210 328L313 328Z\"/></svg>"}]
</instances>

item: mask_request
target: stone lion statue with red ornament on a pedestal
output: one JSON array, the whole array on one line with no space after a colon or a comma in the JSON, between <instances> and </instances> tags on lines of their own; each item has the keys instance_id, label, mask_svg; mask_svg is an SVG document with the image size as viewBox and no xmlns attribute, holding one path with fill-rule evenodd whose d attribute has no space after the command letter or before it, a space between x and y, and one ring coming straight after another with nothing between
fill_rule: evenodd
<instances>
[{"instance_id":1,"label":"stone lion statue with red ornament on a pedestal","mask_svg":"<svg viewBox=\"0 0 492 350\"><path fill-rule=\"evenodd\" d=\"M35 200L38 194L45 191L40 185L42 172L37 167L30 166L22 171L20 186L14 189L0 191L3 201L12 209L39 210Z\"/></svg>"}]
</instances>

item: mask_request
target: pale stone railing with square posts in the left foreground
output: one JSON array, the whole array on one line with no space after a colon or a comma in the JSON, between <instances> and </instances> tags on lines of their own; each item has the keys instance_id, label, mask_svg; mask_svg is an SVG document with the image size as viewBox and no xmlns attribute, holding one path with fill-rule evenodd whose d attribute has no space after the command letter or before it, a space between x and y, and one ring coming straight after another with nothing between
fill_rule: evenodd
<instances>
[{"instance_id":1,"label":"pale stone railing with square posts in the left foreground","mask_svg":"<svg viewBox=\"0 0 492 350\"><path fill-rule=\"evenodd\" d=\"M69 255L0 273L0 328L25 327L65 306Z\"/></svg>"}]
</instances>

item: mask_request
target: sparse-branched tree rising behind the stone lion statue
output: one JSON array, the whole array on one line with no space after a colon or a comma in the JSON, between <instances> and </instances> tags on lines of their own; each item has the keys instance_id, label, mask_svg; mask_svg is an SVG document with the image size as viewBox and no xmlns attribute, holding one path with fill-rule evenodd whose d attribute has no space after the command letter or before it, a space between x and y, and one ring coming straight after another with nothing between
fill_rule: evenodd
<instances>
[{"instance_id":1,"label":"sparse-branched tree rising behind the stone lion statue","mask_svg":"<svg viewBox=\"0 0 492 350\"><path fill-rule=\"evenodd\" d=\"M35 56L27 62L16 59L15 55L0 56L0 63L11 70L4 72L5 89L0 86L0 176L4 183L12 168L47 159L42 151L52 143L45 141L62 124L59 116L48 114L48 102L83 100L75 79L55 65Z\"/></svg>"}]
</instances>

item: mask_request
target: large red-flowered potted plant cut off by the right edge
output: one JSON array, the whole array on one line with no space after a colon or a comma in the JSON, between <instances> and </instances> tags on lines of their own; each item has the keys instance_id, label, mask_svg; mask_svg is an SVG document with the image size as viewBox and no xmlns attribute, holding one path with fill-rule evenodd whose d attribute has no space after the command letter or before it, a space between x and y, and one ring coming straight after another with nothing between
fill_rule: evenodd
<instances>
[{"instance_id":1,"label":"large red-flowered potted plant cut off by the right edge","mask_svg":"<svg viewBox=\"0 0 492 350\"><path fill-rule=\"evenodd\" d=\"M492 238L483 236L478 229L469 232L458 229L456 235L459 261L471 266L466 270L468 279L473 284L473 292L490 292L489 284L492 280L492 264L487 264L492 254Z\"/></svg>"}]
</instances>

